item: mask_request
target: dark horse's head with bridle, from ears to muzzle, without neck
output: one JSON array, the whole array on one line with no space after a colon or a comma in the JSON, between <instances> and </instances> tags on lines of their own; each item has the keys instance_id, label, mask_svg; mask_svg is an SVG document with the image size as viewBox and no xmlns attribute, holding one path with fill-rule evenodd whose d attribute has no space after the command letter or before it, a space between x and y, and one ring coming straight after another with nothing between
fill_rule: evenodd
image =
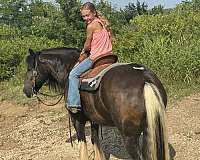
<instances>
[{"instance_id":1,"label":"dark horse's head with bridle, from ears to muzzle, without neck","mask_svg":"<svg viewBox=\"0 0 200 160\"><path fill-rule=\"evenodd\" d=\"M29 49L30 55L26 58L27 72L24 80L23 92L27 97L32 97L34 93L37 93L47 80L48 73L44 69L42 62L39 60L40 52L34 52Z\"/></svg>"}]
</instances>

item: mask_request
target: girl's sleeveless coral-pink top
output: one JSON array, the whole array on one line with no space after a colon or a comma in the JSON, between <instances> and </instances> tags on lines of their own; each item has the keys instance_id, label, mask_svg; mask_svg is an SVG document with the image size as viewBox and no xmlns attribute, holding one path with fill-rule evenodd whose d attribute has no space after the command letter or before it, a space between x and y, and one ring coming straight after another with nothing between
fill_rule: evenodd
<instances>
[{"instance_id":1,"label":"girl's sleeveless coral-pink top","mask_svg":"<svg viewBox=\"0 0 200 160\"><path fill-rule=\"evenodd\" d=\"M110 39L110 33L106 30L100 19L96 19L95 21L99 22L103 28L101 31L93 33L90 50L91 60L95 60L97 57L104 54L112 54L112 42Z\"/></svg>"}]
</instances>

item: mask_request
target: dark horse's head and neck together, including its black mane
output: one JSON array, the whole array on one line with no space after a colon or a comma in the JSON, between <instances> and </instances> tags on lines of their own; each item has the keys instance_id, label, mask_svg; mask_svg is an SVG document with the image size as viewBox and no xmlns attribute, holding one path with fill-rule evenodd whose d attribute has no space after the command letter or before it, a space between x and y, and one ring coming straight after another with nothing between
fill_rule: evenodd
<instances>
[{"instance_id":1,"label":"dark horse's head and neck together, including its black mane","mask_svg":"<svg viewBox=\"0 0 200 160\"><path fill-rule=\"evenodd\" d=\"M37 93L46 81L50 88L64 89L66 78L80 54L75 48L52 48L40 52L29 49L29 52L23 90L29 98Z\"/></svg>"}]
</instances>

